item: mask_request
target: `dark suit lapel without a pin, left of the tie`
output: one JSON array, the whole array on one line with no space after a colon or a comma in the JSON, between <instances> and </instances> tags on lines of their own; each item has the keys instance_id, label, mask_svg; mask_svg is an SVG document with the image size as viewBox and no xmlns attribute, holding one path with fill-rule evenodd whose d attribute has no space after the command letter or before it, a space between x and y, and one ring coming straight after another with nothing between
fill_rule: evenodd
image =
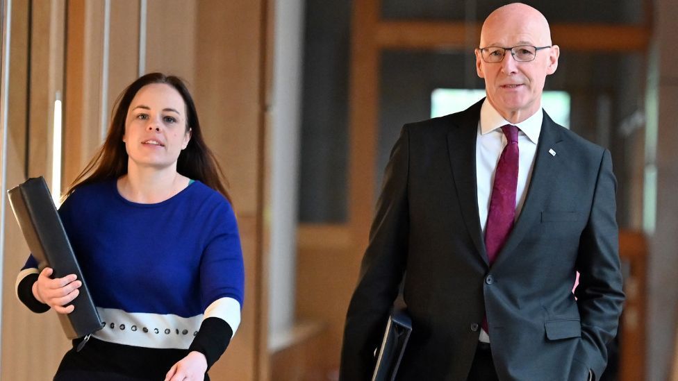
<instances>
[{"instance_id":1,"label":"dark suit lapel without a pin, left of the tie","mask_svg":"<svg viewBox=\"0 0 678 381\"><path fill-rule=\"evenodd\" d=\"M478 216L476 180L476 139L483 100L458 114L455 125L447 132L447 153L466 228L479 255L488 263Z\"/></svg>"}]
</instances>

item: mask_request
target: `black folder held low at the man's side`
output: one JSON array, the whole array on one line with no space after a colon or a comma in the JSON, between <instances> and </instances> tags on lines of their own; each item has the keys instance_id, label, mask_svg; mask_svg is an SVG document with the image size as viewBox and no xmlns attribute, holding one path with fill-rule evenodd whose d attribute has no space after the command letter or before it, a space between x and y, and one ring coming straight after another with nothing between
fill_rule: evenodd
<instances>
[{"instance_id":1,"label":"black folder held low at the man's side","mask_svg":"<svg viewBox=\"0 0 678 381\"><path fill-rule=\"evenodd\" d=\"M403 308L395 308L386 323L372 381L393 381L412 333L412 319Z\"/></svg>"}]
</instances>

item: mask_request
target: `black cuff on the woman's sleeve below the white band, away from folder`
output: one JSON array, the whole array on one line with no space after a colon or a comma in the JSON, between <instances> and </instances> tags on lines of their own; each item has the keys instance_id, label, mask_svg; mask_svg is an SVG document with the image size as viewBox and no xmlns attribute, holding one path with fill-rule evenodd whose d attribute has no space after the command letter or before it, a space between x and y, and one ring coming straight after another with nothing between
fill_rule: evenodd
<instances>
[{"instance_id":1,"label":"black cuff on the woman's sleeve below the white band, away from folder","mask_svg":"<svg viewBox=\"0 0 678 381\"><path fill-rule=\"evenodd\" d=\"M209 317L201 325L198 334L188 347L189 351L196 350L205 355L207 359L207 369L209 370L217 359L224 354L226 347L229 346L233 337L231 325L224 319Z\"/></svg>"}]
</instances>

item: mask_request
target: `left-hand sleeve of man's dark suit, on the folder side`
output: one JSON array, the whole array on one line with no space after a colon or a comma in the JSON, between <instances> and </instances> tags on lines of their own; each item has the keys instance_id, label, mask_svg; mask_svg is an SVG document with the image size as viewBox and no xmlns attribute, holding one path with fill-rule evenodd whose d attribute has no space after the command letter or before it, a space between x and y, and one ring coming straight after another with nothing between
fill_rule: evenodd
<instances>
[{"instance_id":1,"label":"left-hand sleeve of man's dark suit, on the folder side","mask_svg":"<svg viewBox=\"0 0 678 381\"><path fill-rule=\"evenodd\" d=\"M408 247L408 130L405 126L386 167L370 243L346 316L341 381L371 380L388 312L397 297Z\"/></svg>"}]
</instances>

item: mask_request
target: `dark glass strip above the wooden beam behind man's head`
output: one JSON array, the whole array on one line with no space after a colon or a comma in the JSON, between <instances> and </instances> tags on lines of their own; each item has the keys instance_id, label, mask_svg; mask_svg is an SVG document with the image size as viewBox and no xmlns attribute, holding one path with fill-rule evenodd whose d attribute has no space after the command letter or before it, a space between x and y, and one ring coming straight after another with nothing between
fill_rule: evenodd
<instances>
[{"instance_id":1,"label":"dark glass strip above the wooden beam behind man's head","mask_svg":"<svg viewBox=\"0 0 678 381\"><path fill-rule=\"evenodd\" d=\"M381 0L383 19L436 19L483 22L493 10L506 4L503 0ZM535 0L529 5L542 12L549 22L640 24L643 0L601 1Z\"/></svg>"}]
</instances>

